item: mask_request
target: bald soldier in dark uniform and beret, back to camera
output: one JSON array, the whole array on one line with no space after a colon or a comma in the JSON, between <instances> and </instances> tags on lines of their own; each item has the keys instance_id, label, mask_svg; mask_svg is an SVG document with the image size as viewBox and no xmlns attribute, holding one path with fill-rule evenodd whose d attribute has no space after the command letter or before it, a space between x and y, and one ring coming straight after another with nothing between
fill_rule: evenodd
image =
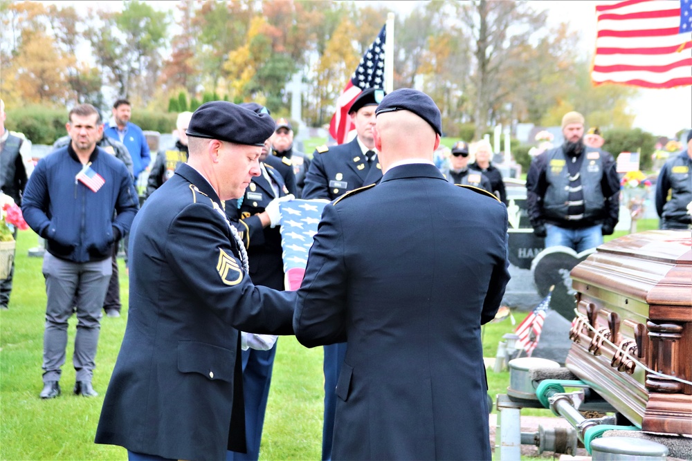
<instances>
[{"instance_id":1,"label":"bald soldier in dark uniform and beret, back to camera","mask_svg":"<svg viewBox=\"0 0 692 461\"><path fill-rule=\"evenodd\" d=\"M435 167L428 95L376 117L383 178L325 207L293 318L304 346L347 341L332 459L489 460L480 327L509 281L507 209Z\"/></svg>"}]
</instances>

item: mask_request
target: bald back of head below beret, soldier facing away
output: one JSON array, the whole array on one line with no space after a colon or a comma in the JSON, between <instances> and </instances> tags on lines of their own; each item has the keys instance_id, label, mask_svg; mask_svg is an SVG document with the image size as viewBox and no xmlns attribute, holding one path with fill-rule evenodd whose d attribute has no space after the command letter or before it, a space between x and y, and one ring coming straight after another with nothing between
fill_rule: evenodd
<instances>
[{"instance_id":1,"label":"bald back of head below beret, soldier facing away","mask_svg":"<svg viewBox=\"0 0 692 461\"><path fill-rule=\"evenodd\" d=\"M380 113L373 133L383 171L401 160L432 162L432 153L439 146L439 135L432 126L410 111Z\"/></svg>"}]
</instances>

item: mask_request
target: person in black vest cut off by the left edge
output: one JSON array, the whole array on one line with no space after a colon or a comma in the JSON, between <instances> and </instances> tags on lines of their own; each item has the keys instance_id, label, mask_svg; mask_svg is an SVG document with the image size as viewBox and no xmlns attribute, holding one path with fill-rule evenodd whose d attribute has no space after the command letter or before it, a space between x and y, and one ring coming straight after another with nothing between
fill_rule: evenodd
<instances>
[{"instance_id":1,"label":"person in black vest cut off by the left edge","mask_svg":"<svg viewBox=\"0 0 692 461\"><path fill-rule=\"evenodd\" d=\"M19 151L29 144L18 136L11 135L5 128L5 103L0 100L0 190L3 194L12 197L15 203L21 207L21 196L26 186L26 168ZM17 229L14 232L17 238ZM12 275L15 274L15 258L12 258L12 267L7 279L0 281L0 310L7 310L12 292Z\"/></svg>"}]
</instances>

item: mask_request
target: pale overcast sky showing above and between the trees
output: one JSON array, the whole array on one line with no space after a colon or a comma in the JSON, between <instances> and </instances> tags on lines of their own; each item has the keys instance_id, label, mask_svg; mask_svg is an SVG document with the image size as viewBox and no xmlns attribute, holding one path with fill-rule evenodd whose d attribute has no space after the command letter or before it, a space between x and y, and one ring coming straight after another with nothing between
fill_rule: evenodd
<instances>
[{"instance_id":1,"label":"pale overcast sky showing above and between the trees","mask_svg":"<svg viewBox=\"0 0 692 461\"><path fill-rule=\"evenodd\" d=\"M71 1L46 1L45 3L75 3L80 8L84 3ZM158 10L175 10L176 1L146 1ZM361 3L391 5L392 11L410 12L421 1L362 1ZM545 8L549 12L549 22L557 24L566 21L570 30L581 36L580 48L583 56L594 51L596 43L596 8L594 0L540 0L532 1L535 8ZM608 1L612 3L612 1ZM98 8L122 8L121 1L102 1ZM396 35L396 30L394 30ZM692 72L692 69L690 70ZM635 115L634 126L655 135L672 137L681 129L692 127L692 86L671 89L639 88L639 96L630 102L630 111ZM588 121L587 121L588 123Z\"/></svg>"}]
</instances>

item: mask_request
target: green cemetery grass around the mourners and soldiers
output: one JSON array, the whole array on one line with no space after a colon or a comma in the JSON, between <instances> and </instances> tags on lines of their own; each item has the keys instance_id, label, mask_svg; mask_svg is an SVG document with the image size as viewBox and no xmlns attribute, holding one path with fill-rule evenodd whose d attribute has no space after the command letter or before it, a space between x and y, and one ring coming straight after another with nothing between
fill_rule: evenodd
<instances>
[{"instance_id":1,"label":"green cemetery grass around the mourners and soldiers","mask_svg":"<svg viewBox=\"0 0 692 461\"><path fill-rule=\"evenodd\" d=\"M640 230L656 227L655 220L639 221ZM618 232L610 238L622 234ZM93 376L98 397L77 397L72 393L75 370L71 357L76 325L73 316L66 364L62 369L62 395L42 400L38 394L42 389L46 291L41 273L42 258L28 256L28 250L37 246L37 242L33 231L19 232L10 309L0 313L0 460L125 460L127 453L121 447L93 443L103 395L127 323L125 263L119 260L122 317L104 316L102 319ZM513 312L516 323L526 314ZM502 335L512 332L513 328L509 319L486 325L484 356L495 357ZM491 367L488 382L494 401L495 395L505 393L509 373L494 373ZM320 459L322 385L322 348L307 349L294 337L281 337L277 341L260 459ZM463 395L459 395L459 402L463 405ZM493 413L497 411L493 409ZM527 409L522 415L550 416L552 413Z\"/></svg>"}]
</instances>

